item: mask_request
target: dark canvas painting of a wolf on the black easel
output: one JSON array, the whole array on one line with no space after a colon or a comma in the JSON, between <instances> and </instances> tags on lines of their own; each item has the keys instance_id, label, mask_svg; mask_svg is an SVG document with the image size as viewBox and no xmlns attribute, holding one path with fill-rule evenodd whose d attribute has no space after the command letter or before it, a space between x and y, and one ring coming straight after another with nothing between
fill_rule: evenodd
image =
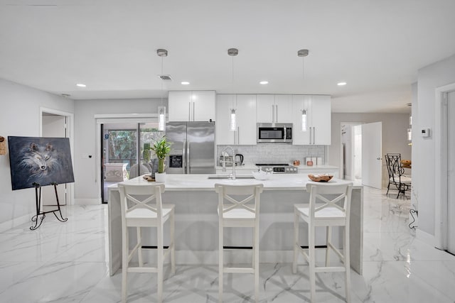
<instances>
[{"instance_id":1,"label":"dark canvas painting of a wolf on the black easel","mask_svg":"<svg viewBox=\"0 0 455 303\"><path fill-rule=\"evenodd\" d=\"M8 137L13 190L74 182L68 138Z\"/></svg>"}]
</instances>

